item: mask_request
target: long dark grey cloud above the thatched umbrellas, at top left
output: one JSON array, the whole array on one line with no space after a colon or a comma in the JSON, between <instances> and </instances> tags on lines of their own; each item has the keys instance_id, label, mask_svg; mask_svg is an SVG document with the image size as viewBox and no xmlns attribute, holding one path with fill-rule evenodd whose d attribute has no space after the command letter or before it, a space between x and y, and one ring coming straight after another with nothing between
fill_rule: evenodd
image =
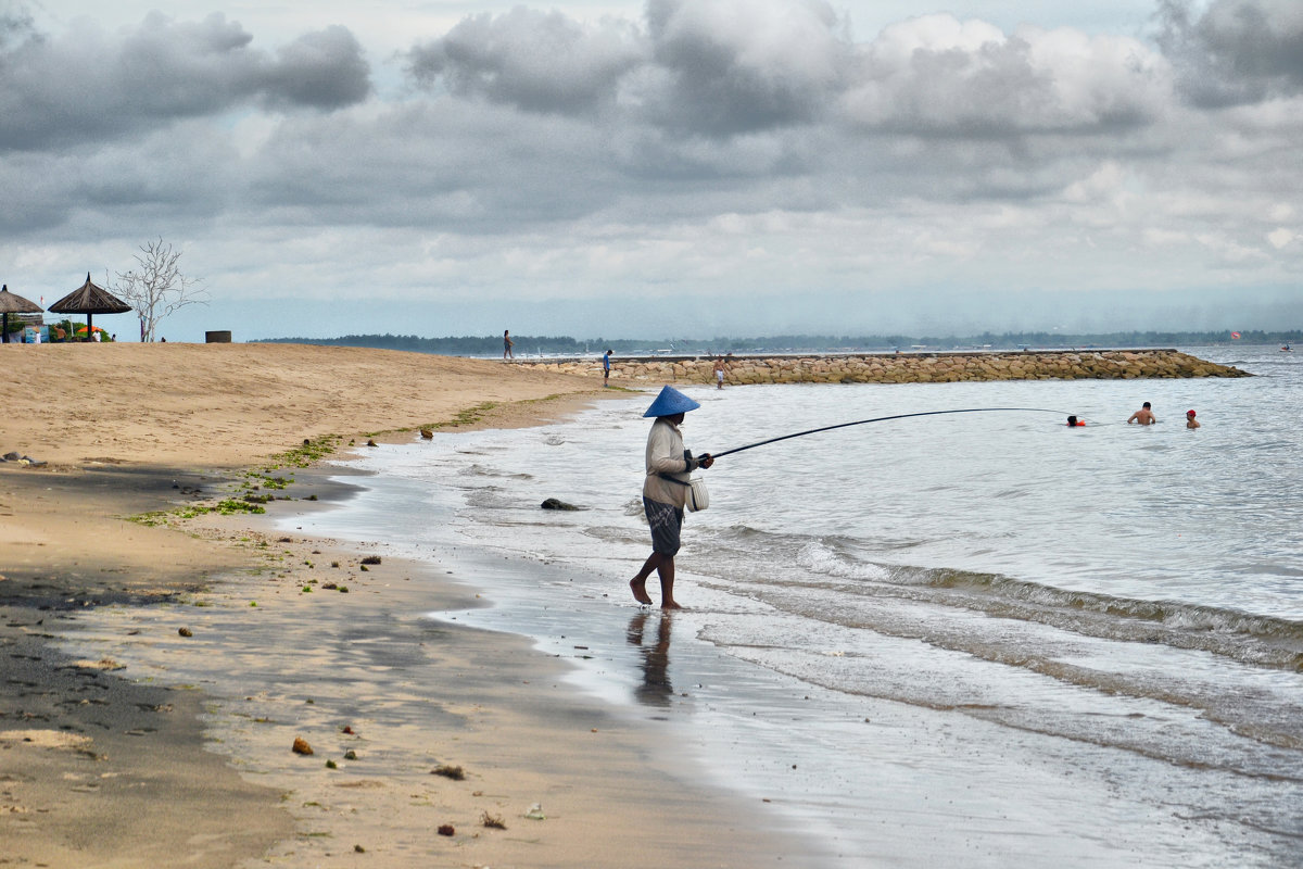
<instances>
[{"instance_id":1,"label":"long dark grey cloud above the thatched umbrellas, at top left","mask_svg":"<svg viewBox=\"0 0 1303 869\"><path fill-rule=\"evenodd\" d=\"M220 13L179 22L151 13L133 31L82 26L57 38L8 29L0 51L0 150L138 134L248 104L332 109L370 93L361 46L340 27L276 56Z\"/></svg>"}]
</instances>

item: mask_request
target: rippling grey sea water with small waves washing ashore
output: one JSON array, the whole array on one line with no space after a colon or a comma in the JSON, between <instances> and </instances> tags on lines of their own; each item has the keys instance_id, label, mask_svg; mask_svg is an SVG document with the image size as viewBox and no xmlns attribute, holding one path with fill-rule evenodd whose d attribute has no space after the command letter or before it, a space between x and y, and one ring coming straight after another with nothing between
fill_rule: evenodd
<instances>
[{"instance_id":1,"label":"rippling grey sea water with small waves washing ashore","mask_svg":"<svg viewBox=\"0 0 1303 869\"><path fill-rule=\"evenodd\" d=\"M816 865L1303 865L1303 361L1190 352L1257 377L684 388L698 453L1045 410L721 459L670 616L627 586L659 384L367 449L294 521L456 565L491 606L430 618L571 659Z\"/></svg>"}]
</instances>

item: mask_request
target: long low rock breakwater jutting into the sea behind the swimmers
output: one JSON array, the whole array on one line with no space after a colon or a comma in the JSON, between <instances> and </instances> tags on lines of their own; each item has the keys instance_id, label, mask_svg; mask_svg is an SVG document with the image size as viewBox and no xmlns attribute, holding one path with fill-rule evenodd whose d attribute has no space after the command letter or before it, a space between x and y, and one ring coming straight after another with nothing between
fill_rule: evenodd
<instances>
[{"instance_id":1,"label":"long low rock breakwater jutting into the sea behind the swimmers","mask_svg":"<svg viewBox=\"0 0 1303 869\"><path fill-rule=\"evenodd\" d=\"M1252 377L1174 349L1027 350L726 357L724 383L954 383L958 380L1121 380ZM714 383L714 358L612 358L611 380ZM532 369L602 377L601 358L519 360Z\"/></svg>"}]
</instances>

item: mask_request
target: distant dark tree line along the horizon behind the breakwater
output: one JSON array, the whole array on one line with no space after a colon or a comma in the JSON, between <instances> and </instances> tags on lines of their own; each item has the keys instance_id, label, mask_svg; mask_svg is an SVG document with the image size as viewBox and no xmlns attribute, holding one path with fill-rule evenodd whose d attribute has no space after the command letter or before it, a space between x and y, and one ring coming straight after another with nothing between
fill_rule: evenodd
<instances>
[{"instance_id":1,"label":"distant dark tree line along the horizon behind the breakwater","mask_svg":"<svg viewBox=\"0 0 1303 869\"><path fill-rule=\"evenodd\" d=\"M769 335L765 337L714 339L605 339L576 340L567 336L513 335L515 354L525 356L599 356L611 349L615 356L705 356L717 353L803 353L803 352L872 352L926 349L1023 349L1023 348L1091 348L1091 347L1191 347L1205 344L1295 344L1303 331L1251 330L1237 332L982 332L981 335ZM502 356L500 335L463 335L457 337L420 337L417 335L343 335L340 337L272 337L274 344L324 344L336 347L370 347L387 350L412 350L439 356Z\"/></svg>"}]
</instances>

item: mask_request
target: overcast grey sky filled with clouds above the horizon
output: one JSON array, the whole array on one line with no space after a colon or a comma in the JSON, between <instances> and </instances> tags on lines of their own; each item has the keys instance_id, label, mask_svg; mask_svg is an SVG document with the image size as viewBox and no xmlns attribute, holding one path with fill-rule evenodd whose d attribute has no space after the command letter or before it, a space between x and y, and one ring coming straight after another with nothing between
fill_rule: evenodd
<instances>
[{"instance_id":1,"label":"overcast grey sky filled with clouds above the horizon","mask_svg":"<svg viewBox=\"0 0 1303 869\"><path fill-rule=\"evenodd\" d=\"M1299 0L165 5L0 0L12 291L162 237L169 340L1303 328Z\"/></svg>"}]
</instances>

